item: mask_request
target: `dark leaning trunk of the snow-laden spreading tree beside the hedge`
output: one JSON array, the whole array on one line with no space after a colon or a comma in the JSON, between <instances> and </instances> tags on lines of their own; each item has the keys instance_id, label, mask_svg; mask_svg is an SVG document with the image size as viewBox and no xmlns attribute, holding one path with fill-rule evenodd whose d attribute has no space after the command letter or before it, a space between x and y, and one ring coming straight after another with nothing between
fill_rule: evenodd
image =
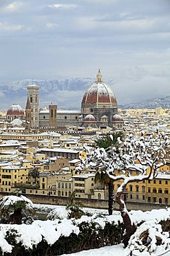
<instances>
[{"instance_id":1,"label":"dark leaning trunk of the snow-laden spreading tree beside the hedge","mask_svg":"<svg viewBox=\"0 0 170 256\"><path fill-rule=\"evenodd\" d=\"M123 237L123 244L127 247L129 239L131 235L136 231L136 226L131 225L131 219L129 217L129 213L127 212L127 208L125 206L125 202L121 199L123 192L117 192L116 194L116 203L119 205L119 210L121 216L123 217L123 223L125 225L125 235Z\"/></svg>"}]
</instances>

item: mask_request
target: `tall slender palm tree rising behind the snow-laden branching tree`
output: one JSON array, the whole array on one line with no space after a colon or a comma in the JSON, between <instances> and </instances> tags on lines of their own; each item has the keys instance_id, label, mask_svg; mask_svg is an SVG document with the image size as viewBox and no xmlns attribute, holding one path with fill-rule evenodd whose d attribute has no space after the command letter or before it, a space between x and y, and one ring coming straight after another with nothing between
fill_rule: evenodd
<instances>
[{"instance_id":1,"label":"tall slender palm tree rising behind the snow-laden branching tree","mask_svg":"<svg viewBox=\"0 0 170 256\"><path fill-rule=\"evenodd\" d=\"M107 152L111 146L114 146L118 149L118 138L123 138L124 134L122 131L118 131L114 134L104 134L102 138L96 140L97 147L103 147ZM108 185L108 212L109 215L113 213L113 202L114 202L114 184L113 180L109 178L108 174L105 170L96 172L96 176L94 179L95 182L99 181L103 185Z\"/></svg>"}]
</instances>

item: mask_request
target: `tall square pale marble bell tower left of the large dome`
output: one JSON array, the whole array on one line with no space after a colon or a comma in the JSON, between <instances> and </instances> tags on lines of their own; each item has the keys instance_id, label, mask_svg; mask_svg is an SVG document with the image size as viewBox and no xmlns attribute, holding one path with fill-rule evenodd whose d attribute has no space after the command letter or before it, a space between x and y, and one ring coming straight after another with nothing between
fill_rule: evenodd
<instances>
[{"instance_id":1,"label":"tall square pale marble bell tower left of the large dome","mask_svg":"<svg viewBox=\"0 0 170 256\"><path fill-rule=\"evenodd\" d=\"M27 89L31 107L31 127L39 127L39 86L31 84Z\"/></svg>"}]
</instances>

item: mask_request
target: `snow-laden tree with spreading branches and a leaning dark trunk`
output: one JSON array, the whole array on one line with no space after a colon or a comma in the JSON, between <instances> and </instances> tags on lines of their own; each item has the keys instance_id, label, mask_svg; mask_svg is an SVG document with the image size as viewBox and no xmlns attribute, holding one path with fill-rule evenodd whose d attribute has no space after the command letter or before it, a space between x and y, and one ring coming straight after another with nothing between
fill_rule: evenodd
<instances>
[{"instance_id":1,"label":"snow-laden tree with spreading branches and a leaning dark trunk","mask_svg":"<svg viewBox=\"0 0 170 256\"><path fill-rule=\"evenodd\" d=\"M129 183L156 178L159 168L165 164L169 140L166 135L160 133L151 134L149 137L143 134L129 134L124 141L118 138L118 143L119 147L113 145L107 151L104 148L94 149L85 145L86 158L82 160L78 170L83 172L84 168L93 167L99 174L107 174L113 182L121 182L115 200L125 224L126 234L123 242L127 246L136 227L131 223L125 201L122 199L123 192ZM131 170L138 171L139 174L131 174Z\"/></svg>"}]
</instances>

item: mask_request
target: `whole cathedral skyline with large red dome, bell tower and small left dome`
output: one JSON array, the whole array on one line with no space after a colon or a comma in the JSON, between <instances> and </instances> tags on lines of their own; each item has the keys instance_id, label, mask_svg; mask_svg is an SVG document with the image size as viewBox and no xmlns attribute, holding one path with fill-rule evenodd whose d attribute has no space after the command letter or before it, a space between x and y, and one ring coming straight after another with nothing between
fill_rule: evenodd
<instances>
[{"instance_id":1,"label":"whole cathedral skyline with large red dome, bell tower and small left dome","mask_svg":"<svg viewBox=\"0 0 170 256\"><path fill-rule=\"evenodd\" d=\"M104 82L100 68L98 68L94 84L83 95L80 111L58 110L59 106L55 104L50 104L49 109L39 110L39 90L39 86L30 84L25 115L19 104L13 104L7 111L7 121L21 124L25 120L23 125L26 131L38 127L41 129L48 127L49 129L63 129L64 127L121 129L123 127L123 118L118 115L116 95Z\"/></svg>"}]
</instances>

